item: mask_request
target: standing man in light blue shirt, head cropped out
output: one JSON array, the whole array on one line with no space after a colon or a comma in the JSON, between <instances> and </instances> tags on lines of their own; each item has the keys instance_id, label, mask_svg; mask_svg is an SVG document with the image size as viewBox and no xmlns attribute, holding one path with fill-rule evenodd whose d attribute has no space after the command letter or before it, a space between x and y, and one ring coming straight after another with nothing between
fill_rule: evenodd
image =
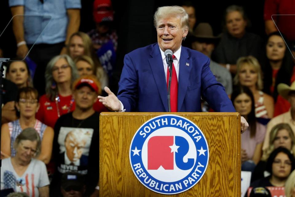
<instances>
[{"instance_id":1,"label":"standing man in light blue shirt, head cropped out","mask_svg":"<svg viewBox=\"0 0 295 197\"><path fill-rule=\"evenodd\" d=\"M18 15L12 20L17 55L25 58L36 41L29 57L37 64L33 84L42 95L45 93L44 74L47 63L54 56L66 52L65 46L69 43L70 36L79 29L81 2L9 0L9 6L12 15Z\"/></svg>"}]
</instances>

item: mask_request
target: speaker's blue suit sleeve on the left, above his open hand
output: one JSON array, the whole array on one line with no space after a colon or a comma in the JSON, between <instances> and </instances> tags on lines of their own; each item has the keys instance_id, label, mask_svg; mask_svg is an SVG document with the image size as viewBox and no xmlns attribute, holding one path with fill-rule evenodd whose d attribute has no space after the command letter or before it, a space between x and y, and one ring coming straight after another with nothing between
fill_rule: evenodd
<instances>
[{"instance_id":1,"label":"speaker's blue suit sleeve on the left, above his open hand","mask_svg":"<svg viewBox=\"0 0 295 197\"><path fill-rule=\"evenodd\" d=\"M126 112L136 110L138 102L138 74L131 57L124 57L124 66L119 81L118 99L123 103Z\"/></svg>"}]
</instances>

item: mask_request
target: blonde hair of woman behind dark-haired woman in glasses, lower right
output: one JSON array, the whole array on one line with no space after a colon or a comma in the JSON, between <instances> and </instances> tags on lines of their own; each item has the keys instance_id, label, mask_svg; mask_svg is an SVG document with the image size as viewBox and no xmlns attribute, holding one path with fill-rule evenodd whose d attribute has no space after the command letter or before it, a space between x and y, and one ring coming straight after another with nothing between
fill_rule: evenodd
<instances>
[{"instance_id":1,"label":"blonde hair of woman behind dark-haired woman in glasses, lower right","mask_svg":"<svg viewBox=\"0 0 295 197\"><path fill-rule=\"evenodd\" d=\"M262 161L266 161L268 159L269 155L271 154L271 152L274 150L273 142L274 142L275 138L277 137L278 132L281 131L281 130L283 130L283 129L287 130L288 133L289 133L289 136L290 136L291 141L292 141L292 146L291 146L290 152L294 155L294 153L295 153L295 137L294 137L294 134L293 134L293 130L290 127L289 124L287 124L287 123L280 123L280 124L275 125L271 129L271 131L269 133L269 146L263 152L263 155L261 157L261 160Z\"/></svg>"}]
</instances>

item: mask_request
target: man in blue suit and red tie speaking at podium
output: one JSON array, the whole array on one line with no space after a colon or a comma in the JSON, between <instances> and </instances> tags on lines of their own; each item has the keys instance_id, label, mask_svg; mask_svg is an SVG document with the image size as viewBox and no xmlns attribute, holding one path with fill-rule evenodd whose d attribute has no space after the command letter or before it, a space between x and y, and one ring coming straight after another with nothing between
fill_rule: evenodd
<instances>
[{"instance_id":1,"label":"man in blue suit and red tie speaking at podium","mask_svg":"<svg viewBox=\"0 0 295 197\"><path fill-rule=\"evenodd\" d=\"M218 112L235 112L224 87L210 71L210 59L198 51L181 46L189 25L182 7L159 7L154 15L158 43L125 55L118 97L108 87L107 97L99 101L111 111L168 112L167 63L165 50L173 52L177 86L175 111L201 111L201 96ZM177 77L177 79L176 79ZM172 77L173 80L173 77ZM171 103L172 101L171 96ZM171 104L172 108L172 104ZM248 127L241 117L241 129Z\"/></svg>"}]
</instances>

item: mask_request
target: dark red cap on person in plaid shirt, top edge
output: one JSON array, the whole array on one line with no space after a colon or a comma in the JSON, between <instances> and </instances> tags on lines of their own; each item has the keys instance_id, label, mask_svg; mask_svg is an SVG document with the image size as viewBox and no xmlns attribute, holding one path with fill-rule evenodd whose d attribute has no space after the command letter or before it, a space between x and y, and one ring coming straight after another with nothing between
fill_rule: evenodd
<instances>
[{"instance_id":1,"label":"dark red cap on person in plaid shirt, top edge","mask_svg":"<svg viewBox=\"0 0 295 197\"><path fill-rule=\"evenodd\" d=\"M93 17L96 23L113 21L114 12L110 0L95 0L93 2Z\"/></svg>"}]
</instances>

